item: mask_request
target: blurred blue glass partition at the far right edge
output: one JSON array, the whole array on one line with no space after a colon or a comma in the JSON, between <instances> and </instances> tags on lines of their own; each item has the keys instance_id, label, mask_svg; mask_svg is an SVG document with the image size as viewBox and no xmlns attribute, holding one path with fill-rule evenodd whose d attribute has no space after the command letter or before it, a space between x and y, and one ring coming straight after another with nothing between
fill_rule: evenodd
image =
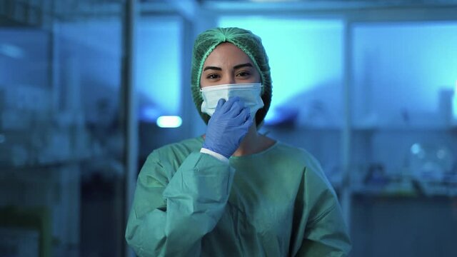
<instances>
[{"instance_id":1,"label":"blurred blue glass partition at the far right edge","mask_svg":"<svg viewBox=\"0 0 457 257\"><path fill-rule=\"evenodd\" d=\"M353 256L453 256L457 23L359 23L352 40Z\"/></svg>"}]
</instances>

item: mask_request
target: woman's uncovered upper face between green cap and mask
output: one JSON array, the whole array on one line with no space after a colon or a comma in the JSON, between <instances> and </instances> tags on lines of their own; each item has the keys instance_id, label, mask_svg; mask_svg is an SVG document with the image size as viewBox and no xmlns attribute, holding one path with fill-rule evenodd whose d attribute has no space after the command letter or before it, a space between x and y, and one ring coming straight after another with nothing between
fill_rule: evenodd
<instances>
[{"instance_id":1,"label":"woman's uncovered upper face between green cap and mask","mask_svg":"<svg viewBox=\"0 0 457 257\"><path fill-rule=\"evenodd\" d=\"M249 56L231 43L216 46L206 58L200 77L201 88L260 82L260 74Z\"/></svg>"}]
</instances>

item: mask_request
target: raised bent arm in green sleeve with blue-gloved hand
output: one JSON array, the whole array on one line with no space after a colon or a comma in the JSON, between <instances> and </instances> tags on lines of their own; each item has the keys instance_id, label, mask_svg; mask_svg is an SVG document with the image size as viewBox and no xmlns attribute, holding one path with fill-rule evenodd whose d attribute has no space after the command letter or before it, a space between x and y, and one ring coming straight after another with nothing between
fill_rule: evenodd
<instances>
[{"instance_id":1,"label":"raised bent arm in green sleeve with blue-gloved hand","mask_svg":"<svg viewBox=\"0 0 457 257\"><path fill-rule=\"evenodd\" d=\"M126 230L126 240L139 256L200 255L201 238L216 226L229 198L234 171L228 158L246 136L249 117L238 97L219 99L203 143L216 158L191 153L175 174L171 163L160 161L174 153L163 158L153 153L146 161Z\"/></svg>"}]
</instances>

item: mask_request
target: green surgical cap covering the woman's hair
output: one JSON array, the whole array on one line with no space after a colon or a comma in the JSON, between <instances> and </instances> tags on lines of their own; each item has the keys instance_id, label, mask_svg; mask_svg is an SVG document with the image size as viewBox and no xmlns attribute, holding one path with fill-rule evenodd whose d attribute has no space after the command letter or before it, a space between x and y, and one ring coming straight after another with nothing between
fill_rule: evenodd
<instances>
[{"instance_id":1,"label":"green surgical cap covering the woman's hair","mask_svg":"<svg viewBox=\"0 0 457 257\"><path fill-rule=\"evenodd\" d=\"M268 56L263 49L260 37L251 31L239 28L216 28L209 29L199 34L195 40L194 51L192 52L191 90L194 103L201 118L208 124L210 116L201 112L203 98L200 91L200 76L206 58L216 46L229 42L243 50L253 61L258 73L261 75L263 108L256 114L256 124L259 126L266 116L271 104L271 75L268 65Z\"/></svg>"}]
</instances>

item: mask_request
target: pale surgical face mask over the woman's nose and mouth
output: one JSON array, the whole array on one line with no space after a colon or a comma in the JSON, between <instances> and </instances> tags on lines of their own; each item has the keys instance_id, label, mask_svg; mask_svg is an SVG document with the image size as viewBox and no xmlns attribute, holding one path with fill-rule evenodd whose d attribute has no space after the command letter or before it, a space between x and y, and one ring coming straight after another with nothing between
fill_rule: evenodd
<instances>
[{"instance_id":1,"label":"pale surgical face mask over the woman's nose and mouth","mask_svg":"<svg viewBox=\"0 0 457 257\"><path fill-rule=\"evenodd\" d=\"M216 110L219 99L229 100L229 97L238 96L244 102L244 106L251 109L251 119L254 119L258 109L263 107L261 99L262 84L224 84L218 86L206 86L200 89L203 95L201 112L212 116Z\"/></svg>"}]
</instances>

